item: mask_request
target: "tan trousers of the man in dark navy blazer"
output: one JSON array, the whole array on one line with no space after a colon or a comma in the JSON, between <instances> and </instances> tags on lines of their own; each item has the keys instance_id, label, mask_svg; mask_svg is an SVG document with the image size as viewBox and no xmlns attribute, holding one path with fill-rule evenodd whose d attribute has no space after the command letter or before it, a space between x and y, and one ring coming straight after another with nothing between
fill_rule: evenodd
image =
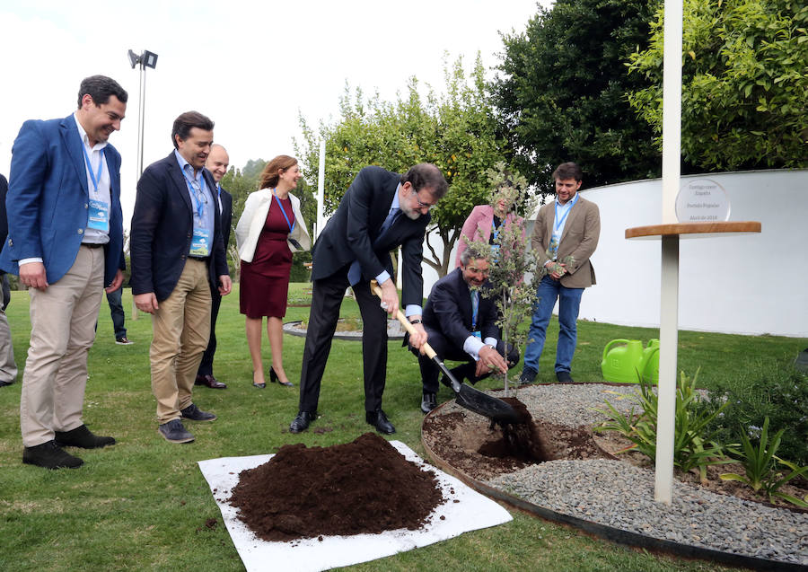
<instances>
[{"instance_id":1,"label":"tan trousers of the man in dark navy blazer","mask_svg":"<svg viewBox=\"0 0 808 572\"><path fill-rule=\"evenodd\" d=\"M191 404L191 391L210 337L210 304L207 264L189 258L174 291L158 303L152 316L154 336L149 356L160 425L179 419L180 409Z\"/></svg>"}]
</instances>

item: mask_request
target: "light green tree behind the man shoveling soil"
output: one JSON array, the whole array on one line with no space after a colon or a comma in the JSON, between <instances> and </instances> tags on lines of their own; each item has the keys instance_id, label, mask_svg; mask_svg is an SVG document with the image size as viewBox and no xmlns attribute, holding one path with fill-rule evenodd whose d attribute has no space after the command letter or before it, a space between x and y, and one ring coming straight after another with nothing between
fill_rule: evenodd
<instances>
[{"instance_id":1,"label":"light green tree behind the man shoveling soil","mask_svg":"<svg viewBox=\"0 0 808 572\"><path fill-rule=\"evenodd\" d=\"M366 165L406 172L416 163L435 163L450 184L432 211L427 230L429 256L424 261L445 276L466 217L487 198L486 170L507 158L505 139L496 135L493 107L486 95L485 70L479 55L469 77L462 58L444 69L446 92L432 89L422 97L415 77L405 97L382 101L364 98L356 89L339 101L336 123L310 127L303 117L303 141L295 152L303 158L303 175L316 180L321 139L326 141L325 211L333 212L356 173ZM297 142L296 142L297 143ZM435 236L443 252L435 248Z\"/></svg>"}]
</instances>

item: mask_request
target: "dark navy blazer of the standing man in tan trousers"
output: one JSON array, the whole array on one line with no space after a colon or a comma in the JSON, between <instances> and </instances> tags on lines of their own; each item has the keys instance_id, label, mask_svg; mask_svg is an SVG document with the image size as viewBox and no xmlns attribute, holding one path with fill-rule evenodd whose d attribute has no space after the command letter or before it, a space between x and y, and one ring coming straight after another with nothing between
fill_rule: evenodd
<instances>
[{"instance_id":1,"label":"dark navy blazer of the standing man in tan trousers","mask_svg":"<svg viewBox=\"0 0 808 572\"><path fill-rule=\"evenodd\" d=\"M215 200L213 175L203 169L202 176ZM132 294L154 292L158 302L168 298L185 268L193 233L194 215L188 185L172 151L166 158L149 165L137 181L129 239ZM215 287L218 277L228 273L222 222L218 216L214 216L212 245L208 270L211 287Z\"/></svg>"}]
</instances>

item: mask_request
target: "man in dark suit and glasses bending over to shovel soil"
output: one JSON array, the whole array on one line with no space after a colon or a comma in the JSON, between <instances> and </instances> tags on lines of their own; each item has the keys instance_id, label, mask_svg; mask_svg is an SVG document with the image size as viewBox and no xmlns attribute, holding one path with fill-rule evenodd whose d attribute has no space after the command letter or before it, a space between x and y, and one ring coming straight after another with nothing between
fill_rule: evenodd
<instances>
[{"instance_id":1,"label":"man in dark suit and glasses bending over to shovel soil","mask_svg":"<svg viewBox=\"0 0 808 572\"><path fill-rule=\"evenodd\" d=\"M382 411L387 314L395 316L399 310L390 251L401 247L404 313L417 332L409 341L414 348L421 348L426 342L421 324L422 245L431 218L429 211L447 189L444 175L430 163L417 164L403 175L365 167L347 189L314 244L312 310L303 349L300 406L289 426L292 433L304 431L317 417L322 374L347 286L354 289L363 321L365 421L380 433L395 433ZM373 278L382 287L381 304L370 289Z\"/></svg>"}]
</instances>

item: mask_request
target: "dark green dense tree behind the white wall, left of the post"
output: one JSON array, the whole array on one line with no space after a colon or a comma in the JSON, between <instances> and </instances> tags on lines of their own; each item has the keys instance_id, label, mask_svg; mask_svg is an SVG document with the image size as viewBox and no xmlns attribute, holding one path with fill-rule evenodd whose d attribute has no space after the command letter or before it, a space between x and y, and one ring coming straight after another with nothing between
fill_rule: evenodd
<instances>
[{"instance_id":1,"label":"dark green dense tree behind the white wall, left of the post","mask_svg":"<svg viewBox=\"0 0 808 572\"><path fill-rule=\"evenodd\" d=\"M491 84L502 130L531 184L551 194L559 163L584 167L587 187L658 176L654 132L628 105L646 87L626 62L648 45L659 0L557 0L523 33L505 35Z\"/></svg>"}]
</instances>

